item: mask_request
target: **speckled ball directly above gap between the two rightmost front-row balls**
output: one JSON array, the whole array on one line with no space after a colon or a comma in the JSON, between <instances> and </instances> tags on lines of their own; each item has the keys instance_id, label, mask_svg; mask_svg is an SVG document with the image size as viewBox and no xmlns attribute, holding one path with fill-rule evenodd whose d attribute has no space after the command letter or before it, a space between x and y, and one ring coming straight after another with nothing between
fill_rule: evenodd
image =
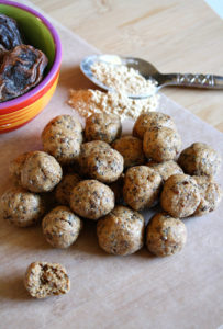
<instances>
[{"instance_id":1,"label":"speckled ball directly above gap between the two rightmost front-row balls","mask_svg":"<svg viewBox=\"0 0 223 329\"><path fill-rule=\"evenodd\" d=\"M153 207L158 202L161 177L146 166L127 169L124 179L124 201L134 211Z\"/></svg>"}]
</instances>

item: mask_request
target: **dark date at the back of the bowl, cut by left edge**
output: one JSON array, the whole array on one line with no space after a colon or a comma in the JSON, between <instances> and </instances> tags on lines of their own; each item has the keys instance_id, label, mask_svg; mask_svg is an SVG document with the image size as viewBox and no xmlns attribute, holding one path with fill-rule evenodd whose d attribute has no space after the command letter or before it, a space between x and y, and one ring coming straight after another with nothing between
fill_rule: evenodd
<instances>
[{"instance_id":1,"label":"dark date at the back of the bowl, cut by left edge","mask_svg":"<svg viewBox=\"0 0 223 329\"><path fill-rule=\"evenodd\" d=\"M21 44L23 44L23 41L16 22L0 14L0 53L12 50Z\"/></svg>"}]
</instances>

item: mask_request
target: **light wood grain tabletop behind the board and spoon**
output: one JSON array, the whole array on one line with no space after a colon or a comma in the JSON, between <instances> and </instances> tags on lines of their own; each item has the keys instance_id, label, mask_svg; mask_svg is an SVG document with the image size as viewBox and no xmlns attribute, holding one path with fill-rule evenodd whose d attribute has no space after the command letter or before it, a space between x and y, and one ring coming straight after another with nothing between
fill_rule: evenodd
<instances>
[{"instance_id":1,"label":"light wood grain tabletop behind the board and spoon","mask_svg":"<svg viewBox=\"0 0 223 329\"><path fill-rule=\"evenodd\" d=\"M161 72L223 76L223 21L202 0L32 0L102 53L137 56ZM223 90L163 92L223 132Z\"/></svg>"}]
</instances>

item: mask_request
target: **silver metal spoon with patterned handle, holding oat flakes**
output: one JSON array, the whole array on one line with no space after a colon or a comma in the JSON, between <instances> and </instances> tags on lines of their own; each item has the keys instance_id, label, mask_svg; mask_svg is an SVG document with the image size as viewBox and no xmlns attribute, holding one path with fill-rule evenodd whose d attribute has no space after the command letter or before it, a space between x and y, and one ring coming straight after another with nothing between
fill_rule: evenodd
<instances>
[{"instance_id":1,"label":"silver metal spoon with patterned handle, holding oat flakes","mask_svg":"<svg viewBox=\"0 0 223 329\"><path fill-rule=\"evenodd\" d=\"M91 66L96 61L104 61L113 65L125 65L137 70L145 79L152 79L156 83L154 93L166 86L192 87L203 89L223 89L223 77L214 75L192 75L192 73L160 73L150 63L135 57L122 57L118 55L91 55L86 57L80 69L83 75L100 88L113 91L113 89L99 81L91 71ZM154 94L153 93L153 94ZM129 94L130 98L141 99L153 94Z\"/></svg>"}]
</instances>

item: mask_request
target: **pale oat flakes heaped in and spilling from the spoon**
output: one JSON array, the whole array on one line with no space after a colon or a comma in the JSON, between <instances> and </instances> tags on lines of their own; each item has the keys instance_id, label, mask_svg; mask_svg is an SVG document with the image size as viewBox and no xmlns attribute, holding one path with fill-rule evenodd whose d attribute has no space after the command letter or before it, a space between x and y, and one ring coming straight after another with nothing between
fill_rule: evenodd
<instances>
[{"instance_id":1,"label":"pale oat flakes heaped in and spilling from the spoon","mask_svg":"<svg viewBox=\"0 0 223 329\"><path fill-rule=\"evenodd\" d=\"M146 99L130 99L127 94L153 93L155 84L144 79L136 70L126 66L113 66L96 63L92 72L102 83L115 89L116 92L99 90L70 90L68 104L81 116L88 117L92 113L113 113L124 118L136 118L140 114L155 111L158 95Z\"/></svg>"}]
</instances>

